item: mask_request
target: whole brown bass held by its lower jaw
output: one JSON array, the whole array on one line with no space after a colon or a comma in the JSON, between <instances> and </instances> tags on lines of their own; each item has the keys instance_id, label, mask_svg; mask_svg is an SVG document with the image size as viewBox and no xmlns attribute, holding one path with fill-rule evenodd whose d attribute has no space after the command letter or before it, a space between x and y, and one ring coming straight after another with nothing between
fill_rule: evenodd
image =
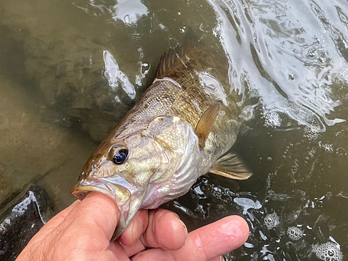
<instances>
[{"instance_id":1,"label":"whole brown bass held by its lower jaw","mask_svg":"<svg viewBox=\"0 0 348 261\"><path fill-rule=\"evenodd\" d=\"M112 239L139 209L184 195L201 175L251 177L239 156L224 155L241 125L240 95L228 90L227 63L216 60L203 47L164 53L152 84L84 165L71 193L83 200L98 191L116 202Z\"/></svg>"}]
</instances>

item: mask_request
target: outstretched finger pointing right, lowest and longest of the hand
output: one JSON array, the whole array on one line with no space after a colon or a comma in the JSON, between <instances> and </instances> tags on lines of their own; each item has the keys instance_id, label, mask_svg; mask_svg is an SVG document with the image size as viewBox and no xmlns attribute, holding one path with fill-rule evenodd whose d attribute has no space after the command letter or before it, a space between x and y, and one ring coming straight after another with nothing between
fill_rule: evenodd
<instances>
[{"instance_id":1,"label":"outstretched finger pointing right, lowest and longest of the hand","mask_svg":"<svg viewBox=\"0 0 348 261\"><path fill-rule=\"evenodd\" d=\"M224 219L189 233L184 246L176 251L150 249L132 260L206 261L242 246L248 239L248 224L240 216Z\"/></svg>"}]
</instances>

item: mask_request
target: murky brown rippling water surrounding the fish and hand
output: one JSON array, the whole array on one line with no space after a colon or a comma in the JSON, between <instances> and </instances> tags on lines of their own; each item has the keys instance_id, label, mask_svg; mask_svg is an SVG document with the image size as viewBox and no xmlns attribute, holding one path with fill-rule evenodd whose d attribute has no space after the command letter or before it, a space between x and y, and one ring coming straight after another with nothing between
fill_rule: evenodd
<instances>
[{"instance_id":1,"label":"murky brown rippling water surrounding the fish and hand","mask_svg":"<svg viewBox=\"0 0 348 261\"><path fill-rule=\"evenodd\" d=\"M228 260L343 260L348 3L340 0L1 1L0 207L30 182L49 191L56 212L72 203L90 153L190 30L225 56L226 88L241 93L245 120L232 150L254 175L201 177L166 207L189 229L244 216L251 235Z\"/></svg>"}]
</instances>

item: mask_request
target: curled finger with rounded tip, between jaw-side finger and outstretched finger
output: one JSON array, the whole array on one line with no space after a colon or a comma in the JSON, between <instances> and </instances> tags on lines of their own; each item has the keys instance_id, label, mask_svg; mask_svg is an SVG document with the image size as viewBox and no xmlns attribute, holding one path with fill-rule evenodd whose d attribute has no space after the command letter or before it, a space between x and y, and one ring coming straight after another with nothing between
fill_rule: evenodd
<instances>
[{"instance_id":1,"label":"curled finger with rounded tip, between jaw-side finger and outstretched finger","mask_svg":"<svg viewBox=\"0 0 348 261\"><path fill-rule=\"evenodd\" d=\"M179 216L167 209L150 211L148 229L141 237L149 248L179 249L187 238L187 228Z\"/></svg>"}]
</instances>

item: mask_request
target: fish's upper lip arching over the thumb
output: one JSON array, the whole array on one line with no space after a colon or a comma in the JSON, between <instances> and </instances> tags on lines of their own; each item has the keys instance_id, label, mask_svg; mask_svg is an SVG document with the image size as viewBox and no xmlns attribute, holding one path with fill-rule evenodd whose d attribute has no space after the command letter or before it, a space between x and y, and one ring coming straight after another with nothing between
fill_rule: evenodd
<instances>
[{"instance_id":1,"label":"fish's upper lip arching over the thumb","mask_svg":"<svg viewBox=\"0 0 348 261\"><path fill-rule=\"evenodd\" d=\"M84 198L86 198L88 193L92 191L103 193L113 200L116 200L115 196L113 195L113 193L111 193L111 191L109 191L106 184L100 182L100 180L80 180L79 183L75 184L74 187L72 187L70 193L79 198L79 200L83 200Z\"/></svg>"}]
</instances>

